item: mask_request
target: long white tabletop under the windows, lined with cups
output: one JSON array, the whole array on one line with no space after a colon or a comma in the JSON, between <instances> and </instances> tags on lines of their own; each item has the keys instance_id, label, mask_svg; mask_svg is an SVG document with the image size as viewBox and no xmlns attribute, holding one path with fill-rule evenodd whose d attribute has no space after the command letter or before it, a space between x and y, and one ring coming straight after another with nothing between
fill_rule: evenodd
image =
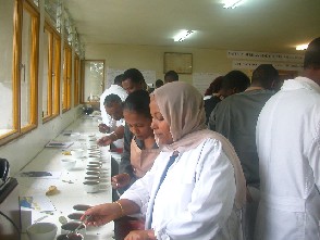
<instances>
[{"instance_id":1,"label":"long white tabletop under the windows, lined with cups","mask_svg":"<svg viewBox=\"0 0 320 240\"><path fill-rule=\"evenodd\" d=\"M93 136L99 138L101 134L98 132L98 123L96 117L83 116L75 121L67 129L61 132L54 140L61 142L72 141L73 144L67 149L45 148L39 154L27 164L15 178L19 181L20 197L36 197L48 200L52 203L53 211L44 211L41 209L26 209L22 207L22 225L26 226L30 223L50 222L58 226L58 233L61 233L61 216L67 219L67 215L77 212L73 209L76 204L96 205L112 201L111 189L111 155L109 148L96 147L100 150L102 168L104 170L104 178L100 182L100 190L96 193L87 193L84 189L83 182L86 175L86 165L90 160L88 153L84 157L77 160L76 166L66 170L61 165L60 161L63 157L72 157L63 153L71 149L82 148L87 150L89 147L86 139ZM74 136L66 136L66 132L79 132L78 139ZM41 178L41 177L23 177L22 173L26 172L48 172L57 177ZM58 191L52 195L46 195L50 186L56 186ZM46 204L45 204L46 205ZM44 207L46 209L46 207ZM29 216L32 215L32 216ZM28 223L29 222L29 223ZM87 240L109 240L114 238L113 222L101 227L87 227L85 239ZM22 233L22 240L27 239L26 233Z\"/></svg>"}]
</instances>

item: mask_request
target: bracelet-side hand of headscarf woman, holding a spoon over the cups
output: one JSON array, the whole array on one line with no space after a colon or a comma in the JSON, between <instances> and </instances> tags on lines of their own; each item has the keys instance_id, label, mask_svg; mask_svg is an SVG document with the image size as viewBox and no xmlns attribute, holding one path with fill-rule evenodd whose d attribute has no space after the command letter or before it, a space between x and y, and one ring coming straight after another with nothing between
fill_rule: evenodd
<instances>
[{"instance_id":1,"label":"bracelet-side hand of headscarf woman, holding a spoon over the cups","mask_svg":"<svg viewBox=\"0 0 320 240\"><path fill-rule=\"evenodd\" d=\"M88 226L101 226L122 215L121 209L116 203L106 203L88 209L81 217L83 220L85 216L90 217L85 222Z\"/></svg>"}]
</instances>

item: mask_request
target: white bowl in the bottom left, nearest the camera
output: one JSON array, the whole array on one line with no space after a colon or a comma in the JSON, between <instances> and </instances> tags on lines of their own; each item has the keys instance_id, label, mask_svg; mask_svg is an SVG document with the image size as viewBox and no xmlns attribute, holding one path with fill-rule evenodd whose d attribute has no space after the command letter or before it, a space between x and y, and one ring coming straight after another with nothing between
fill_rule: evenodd
<instances>
[{"instance_id":1,"label":"white bowl in the bottom left, nearest the camera","mask_svg":"<svg viewBox=\"0 0 320 240\"><path fill-rule=\"evenodd\" d=\"M36 223L26 228L29 240L53 240L57 230L57 226L51 223Z\"/></svg>"}]
</instances>

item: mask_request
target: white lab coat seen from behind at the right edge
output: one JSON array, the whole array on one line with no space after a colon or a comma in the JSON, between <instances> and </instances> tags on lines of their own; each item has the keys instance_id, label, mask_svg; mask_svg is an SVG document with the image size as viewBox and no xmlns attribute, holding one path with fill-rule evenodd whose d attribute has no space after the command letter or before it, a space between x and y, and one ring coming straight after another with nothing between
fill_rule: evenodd
<instances>
[{"instance_id":1,"label":"white lab coat seen from behind at the right edge","mask_svg":"<svg viewBox=\"0 0 320 240\"><path fill-rule=\"evenodd\" d=\"M260 113L257 148L261 200L255 239L319 240L320 87L315 81L284 81Z\"/></svg>"}]
</instances>

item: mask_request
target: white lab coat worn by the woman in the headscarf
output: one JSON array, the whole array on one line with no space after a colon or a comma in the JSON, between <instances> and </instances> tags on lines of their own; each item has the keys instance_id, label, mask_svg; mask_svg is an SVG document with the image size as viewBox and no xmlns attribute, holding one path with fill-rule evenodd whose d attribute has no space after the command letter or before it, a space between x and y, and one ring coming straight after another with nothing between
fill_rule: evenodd
<instances>
[{"instance_id":1,"label":"white lab coat worn by the woman in the headscarf","mask_svg":"<svg viewBox=\"0 0 320 240\"><path fill-rule=\"evenodd\" d=\"M161 152L152 168L121 199L131 199L150 220L160 176L172 153ZM204 140L177 156L169 168L153 205L157 239L239 240L241 217L234 206L235 178L218 140Z\"/></svg>"}]
</instances>

